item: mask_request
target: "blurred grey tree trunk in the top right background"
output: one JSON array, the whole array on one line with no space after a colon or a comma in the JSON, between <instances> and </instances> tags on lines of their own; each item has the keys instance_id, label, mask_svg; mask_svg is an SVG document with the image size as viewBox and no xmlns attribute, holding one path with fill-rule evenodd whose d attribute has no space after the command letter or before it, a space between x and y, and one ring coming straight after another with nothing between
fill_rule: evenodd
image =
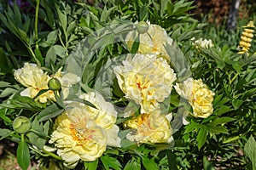
<instances>
[{"instance_id":1,"label":"blurred grey tree trunk in the top right background","mask_svg":"<svg viewBox=\"0 0 256 170\"><path fill-rule=\"evenodd\" d=\"M230 14L227 21L227 29L234 29L236 28L236 21L238 15L238 9L240 6L241 0L233 0L232 6L230 7Z\"/></svg>"}]
</instances>

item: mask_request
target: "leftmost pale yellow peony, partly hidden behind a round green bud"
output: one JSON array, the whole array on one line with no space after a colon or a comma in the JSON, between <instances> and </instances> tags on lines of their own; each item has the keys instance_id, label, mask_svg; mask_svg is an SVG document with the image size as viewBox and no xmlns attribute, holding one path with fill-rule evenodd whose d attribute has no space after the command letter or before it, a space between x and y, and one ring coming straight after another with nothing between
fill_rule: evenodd
<instances>
[{"instance_id":1,"label":"leftmost pale yellow peony, partly hidden behind a round green bud","mask_svg":"<svg viewBox=\"0 0 256 170\"><path fill-rule=\"evenodd\" d=\"M26 89L20 93L21 96L34 98L39 91L49 89L48 82L51 77L49 77L46 72L44 73L38 65L25 63L21 69L15 71L14 75L16 81L26 87ZM69 94L69 88L80 81L80 78L72 73L61 73L61 69L59 69L53 77L61 82L64 99L66 99ZM55 94L51 90L38 96L36 100L39 100L41 103L46 103L48 99L55 100Z\"/></svg>"}]
</instances>

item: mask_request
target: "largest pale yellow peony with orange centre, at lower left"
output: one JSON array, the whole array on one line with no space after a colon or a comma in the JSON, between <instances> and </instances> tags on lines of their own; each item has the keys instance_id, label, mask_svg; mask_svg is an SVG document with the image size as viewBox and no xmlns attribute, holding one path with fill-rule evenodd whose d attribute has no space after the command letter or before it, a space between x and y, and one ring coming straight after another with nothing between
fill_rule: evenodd
<instances>
[{"instance_id":1,"label":"largest pale yellow peony with orange centre, at lower left","mask_svg":"<svg viewBox=\"0 0 256 170\"><path fill-rule=\"evenodd\" d=\"M96 93L84 94L82 98L93 97L94 101L102 98ZM96 103L108 105L105 100ZM55 131L49 140L50 144L55 144L57 154L64 160L66 167L76 167L79 160L95 161L102 156L107 145L120 146L119 127L114 124L117 113L112 110L113 106L101 110L98 107L95 109L79 102L72 102L67 108L69 109L57 117Z\"/></svg>"}]
</instances>

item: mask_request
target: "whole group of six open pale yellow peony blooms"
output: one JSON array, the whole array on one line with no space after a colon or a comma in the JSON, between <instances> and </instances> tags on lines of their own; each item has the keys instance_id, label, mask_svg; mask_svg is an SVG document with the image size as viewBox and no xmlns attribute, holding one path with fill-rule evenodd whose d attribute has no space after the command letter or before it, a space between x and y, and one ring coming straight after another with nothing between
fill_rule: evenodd
<instances>
[{"instance_id":1,"label":"whole group of six open pale yellow peony blooms","mask_svg":"<svg viewBox=\"0 0 256 170\"><path fill-rule=\"evenodd\" d=\"M172 45L172 38L160 26L144 25L139 32L140 44L137 54L127 54L122 64L115 65L113 71L119 88L125 98L140 105L139 115L129 112L130 119L123 123L129 129L126 139L137 144L172 143L172 113L162 113L160 105L170 97L176 74L168 64L172 58L166 52L166 44ZM133 33L125 38L131 49ZM138 33L137 33L138 35ZM64 99L73 84L80 77L72 73L62 73L61 69L51 77L38 66L26 63L15 71L15 79L26 87L20 95L34 98L42 89L49 89L49 80L54 77L61 82ZM177 83L174 88L193 108L195 117L206 118L212 114L213 93L200 80L189 78ZM102 156L108 146L120 147L119 127L115 124L118 112L101 94L90 92L80 94L80 99L89 101L95 107L77 101L65 101L67 109L55 120L54 132L49 144L61 156L68 168L76 167L80 160L95 161ZM38 96L41 103L55 100L53 91ZM44 148L47 150L47 147Z\"/></svg>"}]
</instances>

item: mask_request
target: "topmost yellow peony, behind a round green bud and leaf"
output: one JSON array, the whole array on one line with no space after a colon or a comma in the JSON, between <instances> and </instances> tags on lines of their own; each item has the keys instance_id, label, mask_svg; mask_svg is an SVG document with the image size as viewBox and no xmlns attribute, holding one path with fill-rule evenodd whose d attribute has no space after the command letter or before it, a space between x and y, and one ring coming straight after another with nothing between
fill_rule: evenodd
<instances>
[{"instance_id":1,"label":"topmost yellow peony, behind a round green bud and leaf","mask_svg":"<svg viewBox=\"0 0 256 170\"><path fill-rule=\"evenodd\" d=\"M169 54L166 52L166 43L172 45L173 40L166 33L166 30L158 25L151 25L150 23L139 22L137 24L145 25L147 29L143 32L140 32L139 36L139 48L137 53L139 54L157 54L158 57L166 59L168 62L171 61ZM139 26L142 27L142 26ZM140 29L138 28L138 31ZM137 31L131 31L125 38L125 42L129 49L131 49L133 42L138 36Z\"/></svg>"}]
</instances>

